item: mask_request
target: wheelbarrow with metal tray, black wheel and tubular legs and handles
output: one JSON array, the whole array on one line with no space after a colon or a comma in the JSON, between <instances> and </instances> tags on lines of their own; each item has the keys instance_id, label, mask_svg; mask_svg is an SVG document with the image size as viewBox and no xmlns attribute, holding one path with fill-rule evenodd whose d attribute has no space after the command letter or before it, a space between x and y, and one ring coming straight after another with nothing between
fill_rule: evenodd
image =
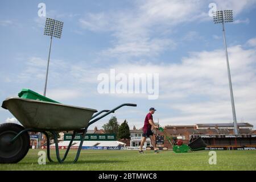
<instances>
[{"instance_id":1,"label":"wheelbarrow with metal tray, black wheel and tubular legs and handles","mask_svg":"<svg viewBox=\"0 0 256 182\"><path fill-rule=\"evenodd\" d=\"M59 163L63 163L67 158L75 135L82 134L80 146L73 161L73 163L76 163L79 159L88 127L106 115L114 113L115 110L122 106L137 105L122 104L112 110L98 112L96 109L53 102L19 97L7 98L3 101L2 107L9 110L23 126L15 123L3 123L0 125L0 163L18 163L27 155L30 148L28 131L41 132L46 135L47 158L49 162L53 162L53 160L50 156L49 136L46 131L52 133L55 142L56 158ZM71 141L62 159L59 154L57 131L73 131Z\"/></svg>"}]
</instances>

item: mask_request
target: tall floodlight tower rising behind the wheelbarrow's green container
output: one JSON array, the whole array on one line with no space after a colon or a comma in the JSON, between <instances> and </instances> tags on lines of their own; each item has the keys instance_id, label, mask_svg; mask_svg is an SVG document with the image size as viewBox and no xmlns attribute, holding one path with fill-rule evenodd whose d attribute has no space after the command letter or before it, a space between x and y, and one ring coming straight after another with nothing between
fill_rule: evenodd
<instances>
[{"instance_id":1,"label":"tall floodlight tower rising behind the wheelbarrow's green container","mask_svg":"<svg viewBox=\"0 0 256 182\"><path fill-rule=\"evenodd\" d=\"M46 96L46 87L47 87L47 78L48 78L48 69L49 69L49 58L51 55L51 47L52 47L52 37L61 38L63 28L63 22L60 22L55 19L46 18L46 25L44 26L44 35L51 36L51 42L49 47L49 55L48 55L48 63L47 63L47 71L46 71L46 83L44 85L44 96Z\"/></svg>"}]
</instances>

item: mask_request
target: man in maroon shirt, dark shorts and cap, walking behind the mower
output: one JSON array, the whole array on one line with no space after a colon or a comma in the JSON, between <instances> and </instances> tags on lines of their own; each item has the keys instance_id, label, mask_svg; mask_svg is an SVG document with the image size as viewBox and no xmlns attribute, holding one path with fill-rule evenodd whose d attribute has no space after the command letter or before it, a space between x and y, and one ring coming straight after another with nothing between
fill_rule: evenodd
<instances>
[{"instance_id":1,"label":"man in maroon shirt, dark shorts and cap, walking behind the mower","mask_svg":"<svg viewBox=\"0 0 256 182\"><path fill-rule=\"evenodd\" d=\"M155 108L151 107L149 113L146 115L145 121L144 121L144 126L143 126L143 137L141 140L141 146L139 146L139 153L140 154L144 154L143 150L142 150L142 146L144 145L144 142L146 141L146 139L149 137L150 138L150 142L152 144L152 146L154 147L154 153L157 154L158 150L156 150L155 147L155 139L153 137L153 133L151 129L158 129L158 126L155 125L154 121L153 121L153 116L152 114L155 113Z\"/></svg>"}]
</instances>

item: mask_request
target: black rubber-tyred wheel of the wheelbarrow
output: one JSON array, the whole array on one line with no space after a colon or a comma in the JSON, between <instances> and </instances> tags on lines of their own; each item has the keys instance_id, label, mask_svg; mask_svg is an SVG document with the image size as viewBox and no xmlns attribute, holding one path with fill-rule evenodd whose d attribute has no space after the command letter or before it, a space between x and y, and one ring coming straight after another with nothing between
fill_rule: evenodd
<instances>
[{"instance_id":1,"label":"black rubber-tyred wheel of the wheelbarrow","mask_svg":"<svg viewBox=\"0 0 256 182\"><path fill-rule=\"evenodd\" d=\"M0 125L0 163L18 163L27 155L30 148L30 137L27 132L20 135L15 142L10 142L22 130L24 127L15 123Z\"/></svg>"}]
</instances>

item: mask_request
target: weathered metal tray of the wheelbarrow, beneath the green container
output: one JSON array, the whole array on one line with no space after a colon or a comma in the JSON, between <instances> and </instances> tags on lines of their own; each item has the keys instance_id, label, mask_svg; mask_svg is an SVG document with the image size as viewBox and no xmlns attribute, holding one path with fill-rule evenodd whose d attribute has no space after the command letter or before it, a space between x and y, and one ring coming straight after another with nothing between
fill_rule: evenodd
<instances>
[{"instance_id":1,"label":"weathered metal tray of the wheelbarrow, beneath the green container","mask_svg":"<svg viewBox=\"0 0 256 182\"><path fill-rule=\"evenodd\" d=\"M2 107L26 128L55 131L79 130L88 125L93 113L97 112L95 109L18 97L3 101Z\"/></svg>"}]
</instances>

